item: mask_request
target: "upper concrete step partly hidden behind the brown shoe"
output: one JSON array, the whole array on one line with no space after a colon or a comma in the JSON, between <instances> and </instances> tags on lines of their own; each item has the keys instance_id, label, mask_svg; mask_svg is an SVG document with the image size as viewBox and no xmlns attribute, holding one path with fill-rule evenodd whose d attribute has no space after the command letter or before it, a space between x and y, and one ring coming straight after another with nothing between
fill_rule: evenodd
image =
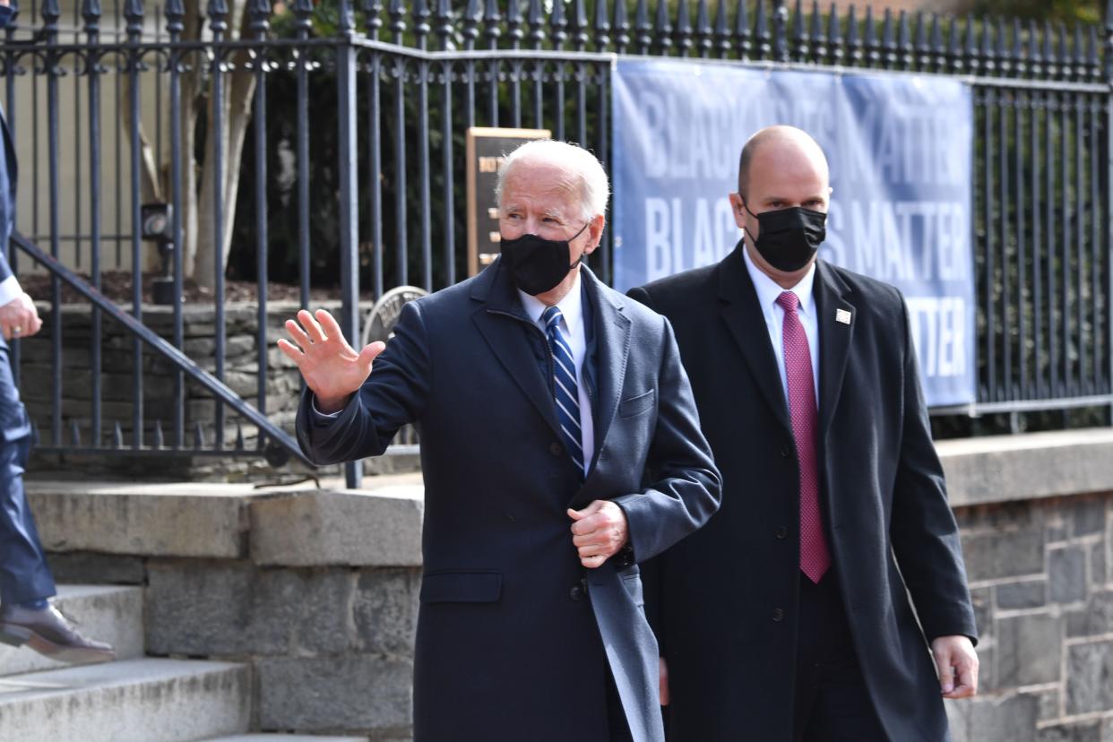
<instances>
[{"instance_id":1,"label":"upper concrete step partly hidden behind the brown shoe","mask_svg":"<svg viewBox=\"0 0 1113 742\"><path fill-rule=\"evenodd\" d=\"M117 660L142 656L142 590L112 585L59 585L55 604L89 639L108 642ZM0 644L0 676L55 670L67 665L26 646Z\"/></svg>"}]
</instances>

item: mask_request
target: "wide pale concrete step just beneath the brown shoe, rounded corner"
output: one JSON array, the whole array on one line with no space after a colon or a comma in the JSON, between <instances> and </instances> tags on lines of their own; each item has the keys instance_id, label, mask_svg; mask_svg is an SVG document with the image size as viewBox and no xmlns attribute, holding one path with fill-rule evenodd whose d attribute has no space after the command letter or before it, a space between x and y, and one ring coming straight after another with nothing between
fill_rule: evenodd
<instances>
[{"instance_id":1,"label":"wide pale concrete step just beneath the brown shoe, rounded corner","mask_svg":"<svg viewBox=\"0 0 1113 742\"><path fill-rule=\"evenodd\" d=\"M246 665L142 659L0 679L4 740L188 742L246 732Z\"/></svg>"}]
</instances>

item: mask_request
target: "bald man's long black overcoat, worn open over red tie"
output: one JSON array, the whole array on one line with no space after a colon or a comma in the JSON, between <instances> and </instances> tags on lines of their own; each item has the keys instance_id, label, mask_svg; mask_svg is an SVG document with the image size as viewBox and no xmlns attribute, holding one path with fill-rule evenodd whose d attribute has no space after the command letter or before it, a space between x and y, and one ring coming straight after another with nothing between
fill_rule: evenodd
<instances>
[{"instance_id":1,"label":"bald man's long black overcoat, worn open over red tie","mask_svg":"<svg viewBox=\"0 0 1113 742\"><path fill-rule=\"evenodd\" d=\"M672 323L723 477L711 522L643 568L670 671L672 742L787 742L792 733L796 449L742 249L631 291ZM823 260L812 290L821 507L861 692L890 740L939 742L946 716L925 634L976 630L907 309L895 288Z\"/></svg>"}]
</instances>

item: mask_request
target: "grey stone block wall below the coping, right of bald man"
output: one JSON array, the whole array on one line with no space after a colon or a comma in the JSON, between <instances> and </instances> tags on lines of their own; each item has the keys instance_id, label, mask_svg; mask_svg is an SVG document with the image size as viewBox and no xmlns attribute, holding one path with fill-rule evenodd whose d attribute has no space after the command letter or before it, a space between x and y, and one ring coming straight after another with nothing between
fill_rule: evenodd
<instances>
[{"instance_id":1,"label":"grey stone block wall below the coping, right of bald man","mask_svg":"<svg viewBox=\"0 0 1113 742\"><path fill-rule=\"evenodd\" d=\"M961 507L981 693L955 742L1113 740L1113 493Z\"/></svg>"}]
</instances>

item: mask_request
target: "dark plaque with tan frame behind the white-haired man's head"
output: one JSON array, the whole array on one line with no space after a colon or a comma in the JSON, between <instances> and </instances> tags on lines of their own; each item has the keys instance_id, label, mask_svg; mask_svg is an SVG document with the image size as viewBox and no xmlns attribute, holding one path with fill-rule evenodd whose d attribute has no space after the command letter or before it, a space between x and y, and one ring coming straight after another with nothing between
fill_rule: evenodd
<instances>
[{"instance_id":1,"label":"dark plaque with tan frame behind the white-haired man's head","mask_svg":"<svg viewBox=\"0 0 1113 742\"><path fill-rule=\"evenodd\" d=\"M548 129L467 129L467 275L499 257L499 204L494 182L502 159L528 140L549 139Z\"/></svg>"}]
</instances>

